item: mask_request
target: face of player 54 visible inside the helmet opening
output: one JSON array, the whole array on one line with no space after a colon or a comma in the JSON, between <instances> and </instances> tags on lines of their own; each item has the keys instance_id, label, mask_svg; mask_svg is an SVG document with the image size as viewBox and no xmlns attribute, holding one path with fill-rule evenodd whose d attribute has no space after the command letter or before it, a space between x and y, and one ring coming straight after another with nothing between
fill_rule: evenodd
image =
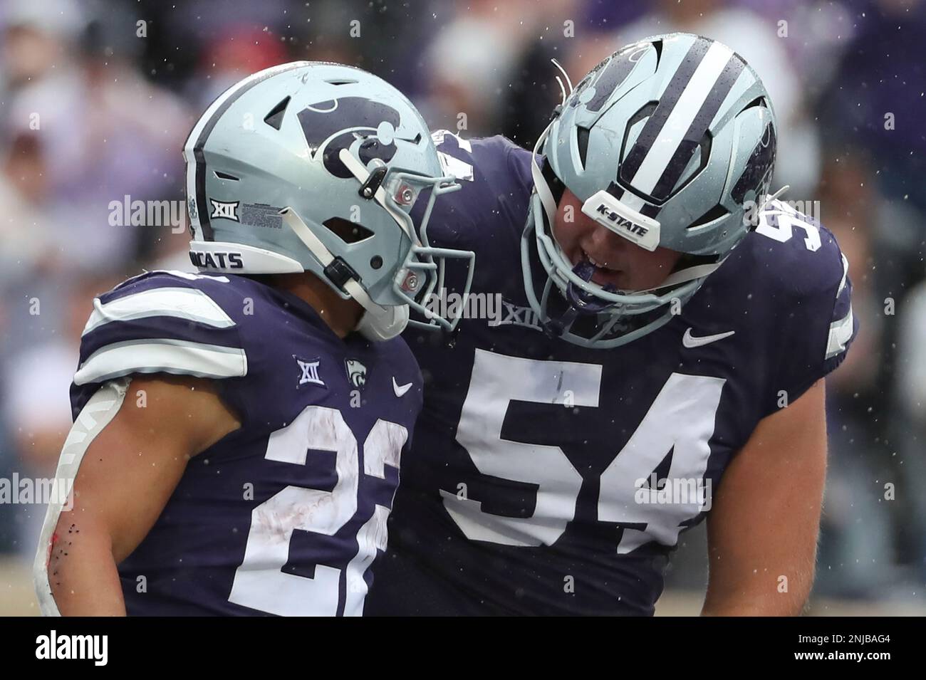
<instances>
[{"instance_id":1,"label":"face of player 54 visible inside the helmet opening","mask_svg":"<svg viewBox=\"0 0 926 680\"><path fill-rule=\"evenodd\" d=\"M554 236L573 266L582 260L594 267L592 280L620 291L654 288L669 276L681 253L668 248L650 252L582 213L582 201L568 189L557 210Z\"/></svg>"}]
</instances>

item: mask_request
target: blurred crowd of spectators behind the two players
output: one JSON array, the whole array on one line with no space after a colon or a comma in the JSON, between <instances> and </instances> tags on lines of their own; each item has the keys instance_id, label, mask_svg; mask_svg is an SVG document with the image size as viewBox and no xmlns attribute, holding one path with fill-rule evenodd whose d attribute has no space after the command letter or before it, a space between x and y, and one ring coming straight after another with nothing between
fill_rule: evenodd
<instances>
[{"instance_id":1,"label":"blurred crowd of spectators behind the two players","mask_svg":"<svg viewBox=\"0 0 926 680\"><path fill-rule=\"evenodd\" d=\"M926 612L920 0L0 0L0 477L54 474L94 294L142 268L190 268L185 229L112 226L109 205L182 200L182 142L234 81L294 59L353 64L432 129L532 146L559 101L551 58L578 82L669 31L757 69L779 117L774 188L816 206L850 263L861 331L827 381L812 611ZM26 573L43 515L0 504L8 573ZM702 529L682 535L669 597L703 592Z\"/></svg>"}]
</instances>

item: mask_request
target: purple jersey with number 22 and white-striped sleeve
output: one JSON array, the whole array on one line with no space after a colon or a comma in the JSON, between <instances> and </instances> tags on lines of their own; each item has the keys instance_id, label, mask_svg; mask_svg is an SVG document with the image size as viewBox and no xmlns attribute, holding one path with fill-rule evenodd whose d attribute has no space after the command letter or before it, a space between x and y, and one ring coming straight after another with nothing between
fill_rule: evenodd
<instances>
[{"instance_id":1,"label":"purple jersey with number 22 and white-striped sleeve","mask_svg":"<svg viewBox=\"0 0 926 680\"><path fill-rule=\"evenodd\" d=\"M251 278L152 272L96 303L75 417L106 380L149 373L215 379L242 427L194 456L119 564L128 612L361 613L421 405L405 341L342 340Z\"/></svg>"}]
</instances>

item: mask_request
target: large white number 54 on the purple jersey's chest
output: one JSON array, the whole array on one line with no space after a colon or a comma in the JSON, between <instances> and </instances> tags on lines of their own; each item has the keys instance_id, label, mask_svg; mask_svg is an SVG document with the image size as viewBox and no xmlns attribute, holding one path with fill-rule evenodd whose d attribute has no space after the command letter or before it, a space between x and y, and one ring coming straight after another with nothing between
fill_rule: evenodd
<instances>
[{"instance_id":1,"label":"large white number 54 on the purple jersey's chest","mask_svg":"<svg viewBox=\"0 0 926 680\"><path fill-rule=\"evenodd\" d=\"M558 446L502 439L513 401L599 407L601 365L541 361L476 350L469 392L457 427L457 441L486 476L537 486L530 517L506 517L482 510L466 494L441 490L444 507L467 538L510 546L552 545L575 516L582 476ZM624 525L616 550L628 552L652 540L674 545L681 525L701 512L702 502L642 504L642 480L672 451L671 479L703 483L708 441L724 380L673 373L643 420L601 476L598 519ZM653 489L652 493L657 493Z\"/></svg>"}]
</instances>

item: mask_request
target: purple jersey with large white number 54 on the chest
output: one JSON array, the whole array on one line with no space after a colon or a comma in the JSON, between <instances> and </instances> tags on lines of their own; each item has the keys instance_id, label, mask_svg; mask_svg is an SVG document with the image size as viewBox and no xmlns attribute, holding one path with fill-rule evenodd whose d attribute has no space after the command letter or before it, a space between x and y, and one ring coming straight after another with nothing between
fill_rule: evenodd
<instances>
[{"instance_id":1,"label":"purple jersey with large white number 54 on the chest","mask_svg":"<svg viewBox=\"0 0 926 680\"><path fill-rule=\"evenodd\" d=\"M500 314L452 338L406 333L424 407L367 612L651 614L735 452L843 360L857 328L845 258L771 202L665 326L569 344L524 292L530 153L436 139L462 190L437 205L432 241L476 253L472 292L484 309L499 295Z\"/></svg>"}]
</instances>

